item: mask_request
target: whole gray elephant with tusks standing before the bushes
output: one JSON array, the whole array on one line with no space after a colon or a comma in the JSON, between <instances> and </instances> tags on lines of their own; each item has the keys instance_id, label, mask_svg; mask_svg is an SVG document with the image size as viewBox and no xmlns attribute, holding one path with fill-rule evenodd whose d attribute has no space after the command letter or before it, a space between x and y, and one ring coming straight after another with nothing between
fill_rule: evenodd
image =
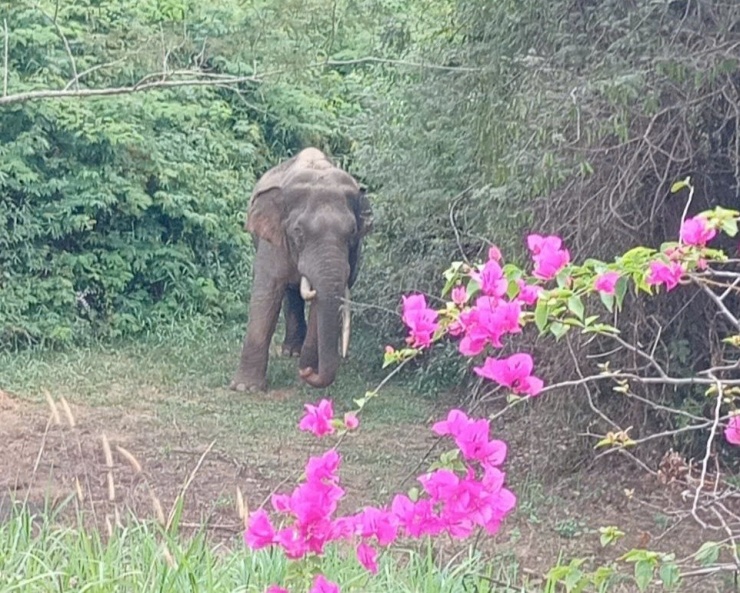
<instances>
[{"instance_id":1,"label":"whole gray elephant with tusks standing before the bushes","mask_svg":"<svg viewBox=\"0 0 740 593\"><path fill-rule=\"evenodd\" d=\"M283 300L283 354L300 356L299 376L309 385L334 382L339 306L357 278L361 241L371 228L365 190L320 150L307 148L259 179L246 223L257 247L249 322L231 389L267 388L268 348ZM308 324L301 277L315 291Z\"/></svg>"}]
</instances>

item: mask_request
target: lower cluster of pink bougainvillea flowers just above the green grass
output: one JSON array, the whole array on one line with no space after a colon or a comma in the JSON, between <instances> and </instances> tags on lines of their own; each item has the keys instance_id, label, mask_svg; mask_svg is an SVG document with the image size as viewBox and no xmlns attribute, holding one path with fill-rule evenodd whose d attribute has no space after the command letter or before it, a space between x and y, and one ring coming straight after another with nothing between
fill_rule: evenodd
<instances>
[{"instance_id":1,"label":"lower cluster of pink bougainvillea flowers just above the green grass","mask_svg":"<svg viewBox=\"0 0 740 593\"><path fill-rule=\"evenodd\" d=\"M320 408L321 404L312 410ZM308 411L304 419L311 414ZM321 423L309 430L317 436L325 434ZM466 461L464 475L437 469L418 478L426 496L411 500L398 494L390 508L365 507L354 515L335 517L345 492L339 485L341 458L331 449L308 460L306 479L292 494L273 495L273 509L290 517L287 525L276 528L264 509L250 515L244 533L247 546L253 550L279 546L286 557L296 560L323 554L331 542L354 542L360 564L376 574L378 548L391 545L399 537L449 534L466 538L476 527L496 533L516 505L514 494L504 488L505 474L500 469L506 458L506 444L489 439L488 420L468 418L460 410L450 411L447 419L436 423L432 430L454 439ZM285 591L272 586L267 593ZM320 592L338 593L339 587L318 575L310 593Z\"/></svg>"}]
</instances>

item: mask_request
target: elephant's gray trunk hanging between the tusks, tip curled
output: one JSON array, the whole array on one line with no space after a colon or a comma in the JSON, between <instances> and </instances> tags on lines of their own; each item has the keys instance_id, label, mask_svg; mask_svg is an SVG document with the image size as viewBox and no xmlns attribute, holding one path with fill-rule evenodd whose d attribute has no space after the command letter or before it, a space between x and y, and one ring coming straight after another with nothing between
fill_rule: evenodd
<instances>
[{"instance_id":1,"label":"elephant's gray trunk hanging between the tusks, tip curled","mask_svg":"<svg viewBox=\"0 0 740 593\"><path fill-rule=\"evenodd\" d=\"M347 266L348 267L348 266ZM319 276L320 282L312 284L316 296L311 301L315 307L317 321L317 350L318 369L311 367L300 371L301 378L312 387L328 387L334 382L339 368L339 338L342 334L340 322L340 306L346 295L347 273L335 274L334 279L327 279L326 275Z\"/></svg>"}]
</instances>

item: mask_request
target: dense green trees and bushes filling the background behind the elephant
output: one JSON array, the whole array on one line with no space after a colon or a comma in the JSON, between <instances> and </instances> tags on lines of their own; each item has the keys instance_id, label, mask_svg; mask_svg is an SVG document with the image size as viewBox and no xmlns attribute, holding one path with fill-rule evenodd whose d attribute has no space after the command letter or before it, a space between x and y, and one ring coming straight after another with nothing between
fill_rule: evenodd
<instances>
[{"instance_id":1,"label":"dense green trees and bushes filling the background behind the elephant","mask_svg":"<svg viewBox=\"0 0 740 593\"><path fill-rule=\"evenodd\" d=\"M575 258L659 245L688 174L692 211L738 205L736 3L39 0L0 15L4 347L243 321L251 186L308 145L371 191L355 294L374 352L401 336L402 292L437 293L490 242L522 253L536 228ZM674 323L679 298L635 305L625 339L662 332L688 373L711 320L692 298L694 321Z\"/></svg>"}]
</instances>

